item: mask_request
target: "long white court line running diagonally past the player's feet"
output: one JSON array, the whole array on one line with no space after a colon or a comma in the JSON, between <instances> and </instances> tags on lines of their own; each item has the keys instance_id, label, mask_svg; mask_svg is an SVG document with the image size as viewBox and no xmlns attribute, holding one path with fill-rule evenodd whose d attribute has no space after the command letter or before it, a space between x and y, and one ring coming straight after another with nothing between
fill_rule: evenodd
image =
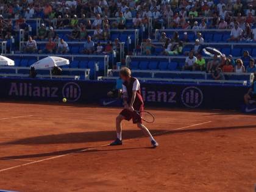
<instances>
[{"instance_id":1,"label":"long white court line running diagonally past the player's feet","mask_svg":"<svg viewBox=\"0 0 256 192\"><path fill-rule=\"evenodd\" d=\"M180 128L178 128L178 129L166 130L166 131L164 131L164 132L154 133L154 134L152 134L152 135L160 135L160 134L163 134L163 133L172 132L172 131L174 131L174 130L180 130L180 129L186 129L186 128L188 128L188 127L200 126L200 125L202 125L202 124L207 124L207 123L211 123L211 122L212 122L212 121L207 121L207 122L204 122L204 123L193 124L193 125L190 125L190 126L180 127ZM131 139L129 139L129 140L132 140L132 139L133 139L133 138L131 138ZM129 140L126 140L126 141L129 141ZM71 154L77 154L77 153L79 153L79 152L89 151L89 150L91 150L91 149L102 148L102 147L108 146L108 145L109 145L109 144L103 144L103 145L101 145L101 146L94 147L94 148L82 149L82 150L77 151L77 152L70 152L70 153L63 154L63 155L57 155L57 156L54 156L54 157L44 158L44 159L37 160L37 161L34 161L34 162L24 163L24 164L22 164L22 165L11 166L10 168L0 169L0 172L8 171L8 170L15 169L15 168L20 168L20 167L22 167L22 166L32 165L32 164L35 164L35 163L46 162L46 161L48 161L48 160L52 160L52 159L60 158L60 157L65 157L65 156L68 156L68 155L71 155Z\"/></svg>"}]
</instances>

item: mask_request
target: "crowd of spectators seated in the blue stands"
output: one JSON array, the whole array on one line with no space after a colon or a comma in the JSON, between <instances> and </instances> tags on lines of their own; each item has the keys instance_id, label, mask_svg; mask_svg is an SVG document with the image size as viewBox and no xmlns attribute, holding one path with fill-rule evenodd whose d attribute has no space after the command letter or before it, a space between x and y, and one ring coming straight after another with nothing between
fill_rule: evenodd
<instances>
[{"instance_id":1,"label":"crowd of spectators seated in the blue stands","mask_svg":"<svg viewBox=\"0 0 256 192\"><path fill-rule=\"evenodd\" d=\"M119 47L118 38L110 41L110 29L147 28L152 20L153 29L193 29L196 40L192 42L193 48L184 53L185 43L191 43L187 32L182 38L177 32L172 37L162 32L158 41L163 46L155 45L148 38L141 48L143 54L151 55L152 49L161 49L162 55L188 55L183 69L255 73L254 59L246 51L238 60L223 54L206 62L202 58L204 34L200 32L202 29L230 29L227 41L256 42L255 7L255 0L2 0L0 40L9 39L19 29L28 31L26 21L40 18L37 35L28 38L24 52L65 54L70 51L67 40L80 40L85 42L82 53L108 54L118 51ZM127 20L132 23L127 25ZM57 29L71 29L71 32L63 39L55 32ZM93 30L93 35L88 35L89 29ZM37 40L47 41L44 49L38 50ZM107 41L107 45L102 46L101 41Z\"/></svg>"}]
</instances>

